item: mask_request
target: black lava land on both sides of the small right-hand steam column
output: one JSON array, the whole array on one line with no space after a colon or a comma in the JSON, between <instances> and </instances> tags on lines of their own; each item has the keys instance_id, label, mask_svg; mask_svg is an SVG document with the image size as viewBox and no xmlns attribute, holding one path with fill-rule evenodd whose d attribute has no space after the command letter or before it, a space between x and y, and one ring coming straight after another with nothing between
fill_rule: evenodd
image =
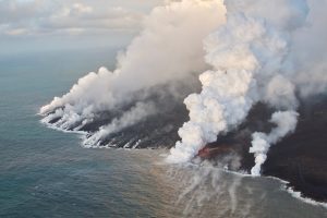
<instances>
[{"instance_id":1,"label":"black lava land on both sides of the small right-hand steam column","mask_svg":"<svg viewBox=\"0 0 327 218\"><path fill-rule=\"evenodd\" d=\"M251 135L270 132L274 124L268 121L274 111L257 104L237 130L220 135L206 147L230 146L242 158L241 169L250 172L254 166L254 156L249 153ZM327 97L316 96L301 102L295 132L271 145L262 172L288 181L304 196L327 202Z\"/></svg>"}]
</instances>

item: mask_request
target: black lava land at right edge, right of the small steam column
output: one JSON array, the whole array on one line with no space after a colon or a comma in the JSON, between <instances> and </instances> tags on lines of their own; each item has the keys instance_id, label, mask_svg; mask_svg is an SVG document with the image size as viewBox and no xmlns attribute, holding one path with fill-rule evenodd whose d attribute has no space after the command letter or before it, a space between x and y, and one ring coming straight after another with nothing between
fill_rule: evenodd
<instances>
[{"instance_id":1,"label":"black lava land at right edge, right of the small steam column","mask_svg":"<svg viewBox=\"0 0 327 218\"><path fill-rule=\"evenodd\" d=\"M308 108L307 108L308 107ZM327 100L302 105L293 134L271 146L263 173L290 182L305 196L327 201Z\"/></svg>"}]
</instances>

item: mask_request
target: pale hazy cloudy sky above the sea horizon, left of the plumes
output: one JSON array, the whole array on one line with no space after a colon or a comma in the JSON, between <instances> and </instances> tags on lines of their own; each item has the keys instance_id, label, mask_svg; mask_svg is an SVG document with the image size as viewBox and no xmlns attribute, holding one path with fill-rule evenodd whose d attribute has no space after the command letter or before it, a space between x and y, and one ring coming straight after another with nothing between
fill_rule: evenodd
<instances>
[{"instance_id":1,"label":"pale hazy cloudy sky above the sea horizon, left of the plumes","mask_svg":"<svg viewBox=\"0 0 327 218\"><path fill-rule=\"evenodd\" d=\"M111 46L129 40L164 0L0 0L0 52Z\"/></svg>"}]
</instances>

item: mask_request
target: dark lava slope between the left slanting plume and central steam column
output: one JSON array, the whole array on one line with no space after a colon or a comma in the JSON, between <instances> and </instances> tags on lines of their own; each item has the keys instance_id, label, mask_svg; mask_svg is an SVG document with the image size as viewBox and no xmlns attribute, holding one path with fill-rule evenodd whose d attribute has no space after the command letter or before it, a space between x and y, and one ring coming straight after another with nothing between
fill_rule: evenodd
<instances>
[{"instance_id":1,"label":"dark lava slope between the left slanting plume and central steam column","mask_svg":"<svg viewBox=\"0 0 327 218\"><path fill-rule=\"evenodd\" d=\"M159 92L148 92L150 95L138 93L136 95L138 98L133 98L133 101L121 106L118 110L98 112L93 122L84 125L81 131L92 135L114 118L120 118L124 111L129 111L137 102L153 102L157 109L155 114L107 135L99 142L99 145L124 148L170 148L179 140L178 130L187 120L187 110L182 100L185 94L177 98L167 89L168 87L161 87Z\"/></svg>"}]
</instances>

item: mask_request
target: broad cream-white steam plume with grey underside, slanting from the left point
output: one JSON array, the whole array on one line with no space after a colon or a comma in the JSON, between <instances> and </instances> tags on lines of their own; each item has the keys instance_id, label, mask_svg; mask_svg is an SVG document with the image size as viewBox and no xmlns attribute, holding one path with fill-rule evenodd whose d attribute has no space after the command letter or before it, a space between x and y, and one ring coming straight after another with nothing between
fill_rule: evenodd
<instances>
[{"instance_id":1,"label":"broad cream-white steam plume with grey underside, slanting from the left point","mask_svg":"<svg viewBox=\"0 0 327 218\"><path fill-rule=\"evenodd\" d=\"M182 107L182 99L198 87L196 75L208 68L203 39L223 23L223 11L220 1L198 0L154 9L144 29L118 56L117 69L102 66L80 78L68 94L40 109L43 121L63 130L93 132L84 141L89 147L156 113L180 110L174 105ZM164 106L166 99L169 102ZM161 120L164 128L171 124L168 120Z\"/></svg>"}]
</instances>

